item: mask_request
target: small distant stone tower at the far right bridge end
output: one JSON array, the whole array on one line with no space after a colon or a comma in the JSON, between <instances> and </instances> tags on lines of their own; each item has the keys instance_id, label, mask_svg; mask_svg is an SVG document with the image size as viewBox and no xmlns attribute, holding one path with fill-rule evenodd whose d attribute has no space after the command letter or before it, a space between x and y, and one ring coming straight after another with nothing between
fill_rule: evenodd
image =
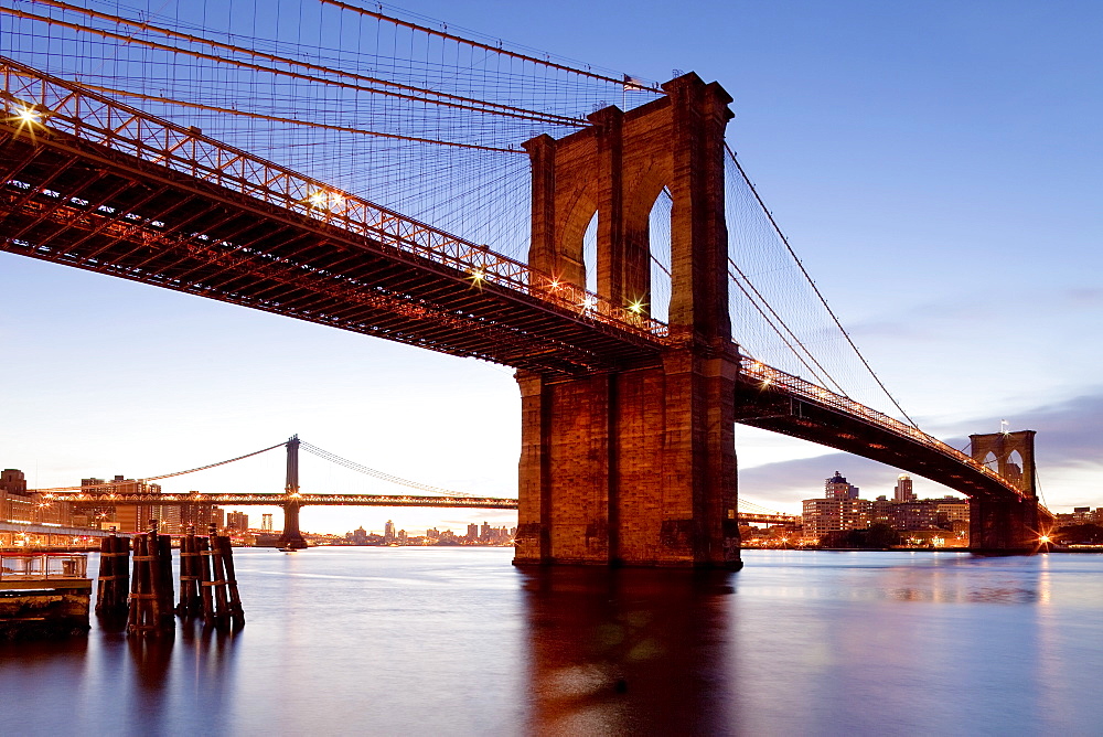
<instances>
[{"instance_id":1,"label":"small distant stone tower at the far right bridge end","mask_svg":"<svg viewBox=\"0 0 1103 737\"><path fill-rule=\"evenodd\" d=\"M1038 487L1035 430L971 435L973 459L996 461L993 470L1022 492L1021 499L970 499L970 547L977 553L1020 553L1038 548ZM1017 459L1016 459L1017 456ZM1017 461L1017 462L1016 462Z\"/></svg>"}]
</instances>

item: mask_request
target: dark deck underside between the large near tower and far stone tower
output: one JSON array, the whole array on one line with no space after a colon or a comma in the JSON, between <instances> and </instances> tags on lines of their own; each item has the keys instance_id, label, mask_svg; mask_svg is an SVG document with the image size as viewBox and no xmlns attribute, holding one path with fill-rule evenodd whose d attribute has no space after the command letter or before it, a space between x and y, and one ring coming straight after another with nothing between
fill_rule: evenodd
<instances>
[{"instance_id":1,"label":"dark deck underside between the large near tower and far stone tower","mask_svg":"<svg viewBox=\"0 0 1103 737\"><path fill-rule=\"evenodd\" d=\"M901 437L859 415L816 405L783 391L741 382L736 388L741 425L781 432L880 461L944 484L967 496L1011 500L1018 495L998 480L923 442Z\"/></svg>"}]
</instances>

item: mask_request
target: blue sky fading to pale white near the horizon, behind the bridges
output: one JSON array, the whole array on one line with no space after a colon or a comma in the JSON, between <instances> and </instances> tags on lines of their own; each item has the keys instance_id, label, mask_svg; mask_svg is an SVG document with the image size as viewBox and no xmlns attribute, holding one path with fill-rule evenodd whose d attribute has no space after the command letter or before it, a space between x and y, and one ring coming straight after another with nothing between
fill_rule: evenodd
<instances>
[{"instance_id":1,"label":"blue sky fading to pale white near the horizon, behind the bridges","mask_svg":"<svg viewBox=\"0 0 1103 737\"><path fill-rule=\"evenodd\" d=\"M1038 431L1053 511L1103 506L1103 6L406 0L450 25L664 81L718 81L728 141L878 375L928 432ZM736 337L738 341L738 335ZM365 466L516 493L512 372L0 254L0 467L34 487L149 477L298 434ZM836 470L899 472L737 426L740 494L799 512ZM167 491L279 491L272 451ZM917 480L923 495L945 488ZM303 459L302 490L395 492ZM258 508L245 511L256 515ZM512 526L307 508L343 533ZM277 526L279 523L277 522Z\"/></svg>"}]
</instances>

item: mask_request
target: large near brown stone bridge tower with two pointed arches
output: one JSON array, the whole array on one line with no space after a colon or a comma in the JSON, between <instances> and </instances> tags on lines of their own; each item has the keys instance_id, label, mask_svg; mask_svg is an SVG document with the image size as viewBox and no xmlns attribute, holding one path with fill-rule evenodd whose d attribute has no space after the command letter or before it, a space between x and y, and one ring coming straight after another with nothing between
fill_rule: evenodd
<instances>
[{"instance_id":1,"label":"large near brown stone bridge tower with two pointed arches","mask_svg":"<svg viewBox=\"0 0 1103 737\"><path fill-rule=\"evenodd\" d=\"M525 143L528 263L617 305L651 301L649 220L668 188L672 344L660 361L565 377L521 371L517 564L738 568L724 130L731 98L687 74L665 97ZM597 264L582 236L598 214Z\"/></svg>"}]
</instances>

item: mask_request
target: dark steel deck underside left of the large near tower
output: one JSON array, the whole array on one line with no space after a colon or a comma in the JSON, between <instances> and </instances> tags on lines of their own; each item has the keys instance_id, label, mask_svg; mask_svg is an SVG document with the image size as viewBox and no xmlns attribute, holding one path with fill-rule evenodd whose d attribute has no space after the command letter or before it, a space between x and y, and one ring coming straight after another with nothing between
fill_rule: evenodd
<instances>
[{"instance_id":1,"label":"dark steel deck underside left of the large near tower","mask_svg":"<svg viewBox=\"0 0 1103 737\"><path fill-rule=\"evenodd\" d=\"M662 343L57 131L0 126L0 249L433 351L576 373Z\"/></svg>"}]
</instances>

